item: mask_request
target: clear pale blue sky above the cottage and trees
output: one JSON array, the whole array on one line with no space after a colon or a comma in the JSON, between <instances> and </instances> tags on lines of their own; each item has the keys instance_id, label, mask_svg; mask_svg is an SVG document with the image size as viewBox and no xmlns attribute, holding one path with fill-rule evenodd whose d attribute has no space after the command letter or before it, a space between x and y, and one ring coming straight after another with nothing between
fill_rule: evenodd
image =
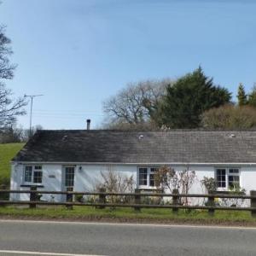
<instances>
[{"instance_id":1,"label":"clear pale blue sky above the cottage and trees","mask_svg":"<svg viewBox=\"0 0 256 256\"><path fill-rule=\"evenodd\" d=\"M254 0L2 2L18 64L7 86L44 94L32 122L45 129L84 129L87 118L96 128L102 101L128 82L176 79L199 65L233 96L240 82L256 82ZM28 127L28 115L19 124Z\"/></svg>"}]
</instances>

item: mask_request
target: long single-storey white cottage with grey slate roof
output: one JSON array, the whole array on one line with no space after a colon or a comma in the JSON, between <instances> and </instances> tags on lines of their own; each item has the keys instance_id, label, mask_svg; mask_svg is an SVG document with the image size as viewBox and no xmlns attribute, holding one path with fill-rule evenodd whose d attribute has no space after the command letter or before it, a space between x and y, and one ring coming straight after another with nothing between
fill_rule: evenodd
<instances>
[{"instance_id":1,"label":"long single-storey white cottage with grey slate roof","mask_svg":"<svg viewBox=\"0 0 256 256\"><path fill-rule=\"evenodd\" d=\"M189 168L198 182L214 177L219 190L239 184L256 189L256 131L38 131L12 160L11 189L90 191L109 168L133 176L137 188L154 189L154 171ZM11 200L28 200L12 194ZM44 195L63 201L63 195Z\"/></svg>"}]
</instances>

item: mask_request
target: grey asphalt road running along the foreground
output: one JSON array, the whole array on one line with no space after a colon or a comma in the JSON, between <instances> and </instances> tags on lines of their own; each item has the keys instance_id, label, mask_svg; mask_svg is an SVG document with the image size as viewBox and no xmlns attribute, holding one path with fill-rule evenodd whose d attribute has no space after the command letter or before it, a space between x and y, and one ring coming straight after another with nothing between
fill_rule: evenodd
<instances>
[{"instance_id":1,"label":"grey asphalt road running along the foreground","mask_svg":"<svg viewBox=\"0 0 256 256\"><path fill-rule=\"evenodd\" d=\"M256 229L0 220L0 255L77 254L255 256Z\"/></svg>"}]
</instances>

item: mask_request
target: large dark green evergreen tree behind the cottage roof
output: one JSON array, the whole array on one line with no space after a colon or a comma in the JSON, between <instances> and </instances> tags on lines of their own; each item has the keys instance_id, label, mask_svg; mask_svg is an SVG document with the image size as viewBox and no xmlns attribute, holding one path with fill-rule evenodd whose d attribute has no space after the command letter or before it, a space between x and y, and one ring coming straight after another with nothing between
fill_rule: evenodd
<instances>
[{"instance_id":1,"label":"large dark green evergreen tree behind the cottage roof","mask_svg":"<svg viewBox=\"0 0 256 256\"><path fill-rule=\"evenodd\" d=\"M230 102L230 92L213 84L201 67L167 86L161 105L159 125L171 128L196 128L201 114L210 108L218 108Z\"/></svg>"}]
</instances>

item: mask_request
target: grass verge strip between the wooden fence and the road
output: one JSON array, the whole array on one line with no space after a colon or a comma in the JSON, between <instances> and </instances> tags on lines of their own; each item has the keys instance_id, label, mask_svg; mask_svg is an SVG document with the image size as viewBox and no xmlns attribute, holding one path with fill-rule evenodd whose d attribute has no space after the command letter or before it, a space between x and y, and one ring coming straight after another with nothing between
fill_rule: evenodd
<instances>
[{"instance_id":1,"label":"grass verge strip between the wooden fence and the road","mask_svg":"<svg viewBox=\"0 0 256 256\"><path fill-rule=\"evenodd\" d=\"M207 211L179 210L172 213L169 209L142 209L141 212L133 208L96 209L95 207L38 207L29 209L24 207L0 207L0 218L36 218L81 221L116 221L143 223L176 223L176 224L231 224L256 226L256 218L247 211L216 211L209 216Z\"/></svg>"}]
</instances>

